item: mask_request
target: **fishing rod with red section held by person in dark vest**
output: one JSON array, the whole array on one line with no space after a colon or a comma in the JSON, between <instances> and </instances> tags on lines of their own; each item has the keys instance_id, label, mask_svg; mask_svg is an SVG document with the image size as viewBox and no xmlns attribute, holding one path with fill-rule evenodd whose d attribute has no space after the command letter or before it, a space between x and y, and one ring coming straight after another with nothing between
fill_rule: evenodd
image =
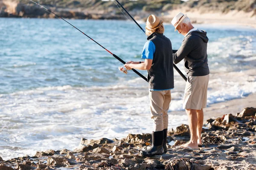
<instances>
[{"instance_id":1,"label":"fishing rod with red section held by person in dark vest","mask_svg":"<svg viewBox=\"0 0 256 170\"><path fill-rule=\"evenodd\" d=\"M49 11L49 13L54 14L58 19L64 20L62 17L58 16L57 14L55 14L54 12L48 10L47 8L45 8L44 6L41 6L40 4L29 0L32 3L35 3L36 5L40 6L41 8L44 8L46 11ZM67 22L66 20L64 20L66 23L70 24L69 22ZM73 28L76 28L75 26L73 26L72 24L70 24ZM80 31L78 28L76 28L78 31ZM84 34L84 32L80 31L82 34ZM96 44L98 44L99 46L101 46L102 48L104 48L106 51L108 51L107 48L103 47L102 45L100 45L98 42L96 42L95 40L93 40L91 37L89 37L87 34L84 34L86 37L90 38L90 40L92 40L93 42L95 42ZM111 53L110 51L108 51L108 53L110 53L113 57L115 57L116 59L118 59L120 62L122 62L123 64L125 64L126 62L124 60L122 60L121 58L119 58L118 56L116 56L116 54ZM137 75L139 75L141 78L143 78L145 81L148 82L148 79L146 77L144 77L142 74L140 74L137 70L135 69L131 69L132 71L134 71L134 73L136 73Z\"/></svg>"}]
</instances>

